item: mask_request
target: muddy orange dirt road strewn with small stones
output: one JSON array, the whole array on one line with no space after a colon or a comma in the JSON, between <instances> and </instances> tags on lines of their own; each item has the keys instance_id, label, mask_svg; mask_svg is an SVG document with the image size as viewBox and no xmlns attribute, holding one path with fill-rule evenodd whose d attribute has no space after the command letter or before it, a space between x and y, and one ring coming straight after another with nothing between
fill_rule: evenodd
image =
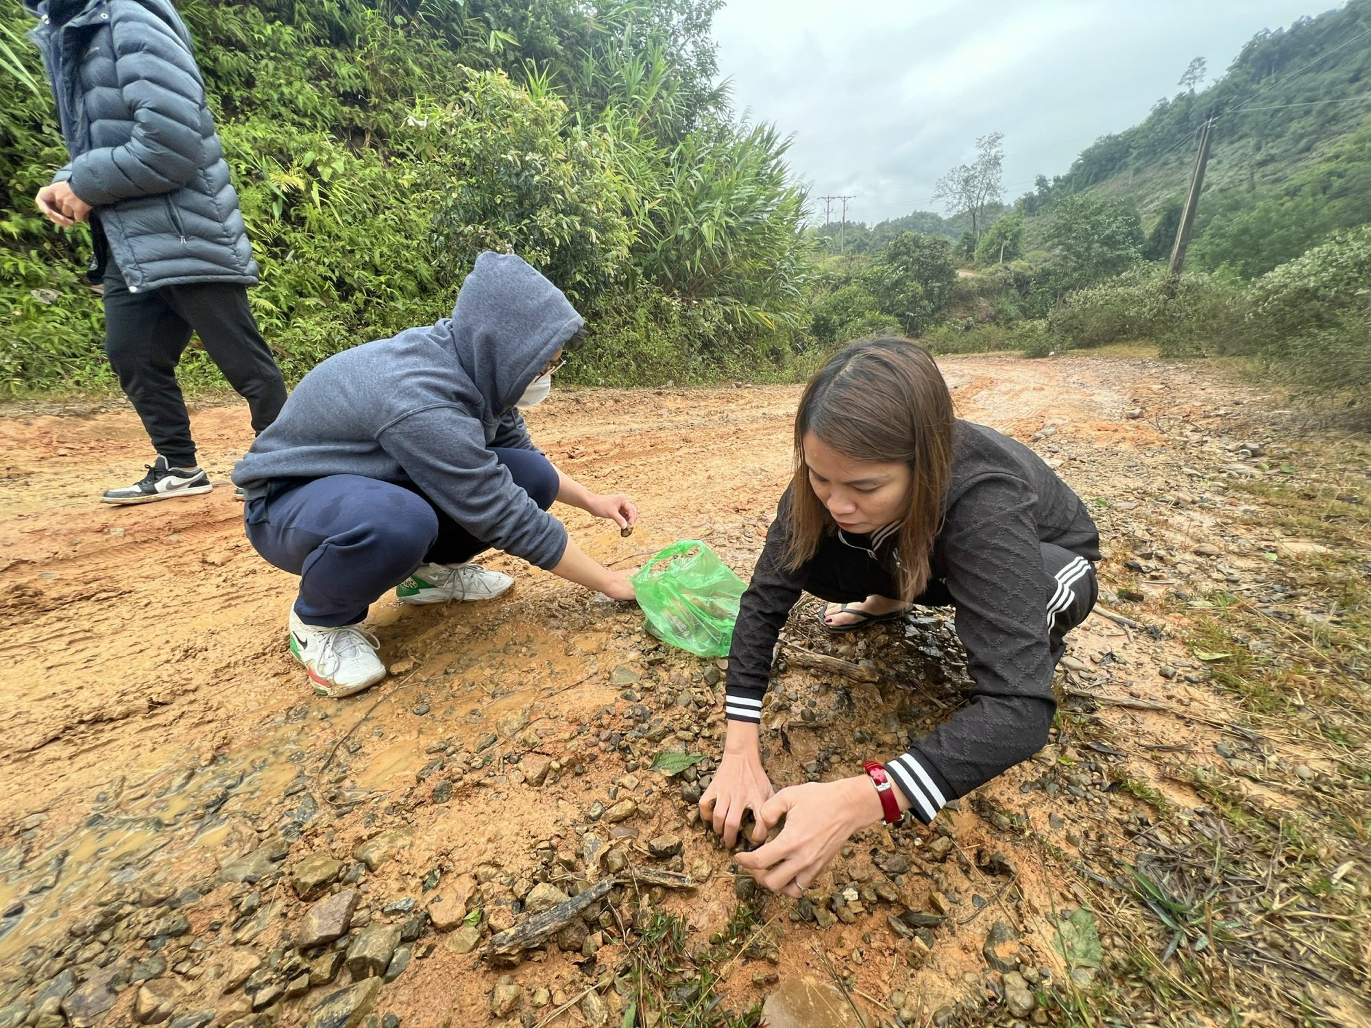
<instances>
[{"instance_id":1,"label":"muddy orange dirt road strewn with small stones","mask_svg":"<svg viewBox=\"0 0 1371 1028\"><path fill-rule=\"evenodd\" d=\"M865 833L799 913L753 896L695 822L696 776L717 755L718 672L659 648L633 610L496 555L488 566L517 578L509 596L450 609L383 599L370 626L392 677L352 700L319 699L284 644L293 580L252 552L226 484L248 439L244 410L195 413L202 461L219 482L211 495L134 509L95 502L147 459L132 414L0 421L0 1028L44 999L66 1002L73 1024L156 1017L158 1002L192 1018L171 1024L210 1023L197 1012L226 1024L254 1009L304 1023L367 968L352 955L341 972L319 962L337 946L355 950L359 936L376 943L385 925L395 938L377 943L388 951L374 966L393 962L378 996L356 987L330 1001L352 1003L359 1020L374 1010L406 1025L521 1016L542 1025L603 1012L620 1024L625 1003L642 1002L620 983L646 979L628 973L625 936L662 909L701 943L716 932L738 940L740 899L751 928L716 968L723 1006L735 1010L809 976L842 979L877 1017L905 1007L909 1023L925 1024L964 1003L1028 1018L1042 996L1024 1001L1023 986L1063 983L1072 962L1083 981L1089 968L1053 943L1061 910L1084 902L1068 870L1135 846L1160 806L1212 816L1168 762L1212 762L1217 742L1249 759L1260 752L1264 766L1298 765L1309 777L1290 779L1290 791L1252 784L1291 809L1337 772L1338 758L1304 736L1245 728L1209 681L1212 662L1167 631L1178 583L1242 595L1274 563L1318 559L1324 546L1245 519L1243 504L1259 500L1227 488L1276 473L1237 452L1243 433L1276 417L1252 389L1146 359L967 358L945 362L945 373L962 417L1028 441L1095 504L1109 547L1102 577L1135 600L1111 595L1126 622L1093 618L1075 633L1065 687L1117 702L1078 699L1079 717L1064 718L1045 759L956 805L939 828ZM591 554L633 566L676 539L703 539L746 576L788 477L798 392L554 393L531 426L561 467L629 492L642 511L631 539L562 511ZM1364 485L1363 474L1342 488ZM851 773L861 752L894 751L964 688L941 620L835 641L797 615L791 639L872 658L884 684L798 666L781 674L768 722L777 784ZM828 714L839 707L869 718L873 739L838 737ZM1104 748L1086 747L1084 721ZM706 761L683 779L651 772L654 755L673 748ZM600 817L627 810L622 800L632 800L622 821ZM696 888L629 888L632 903L599 903L588 924L513 970L462 951L466 909L481 911L469 920L484 944L535 892L574 892L598 877L610 848ZM1327 859L1337 853L1330 846ZM344 942L298 953L306 898L354 888ZM437 894L461 906L455 922L435 916ZM625 927L629 906L639 914ZM914 917L887 922L901 911ZM396 949L406 957L392 958ZM502 973L511 981L500 986ZM1338 966L1323 976L1315 984L1337 1002L1361 1002ZM319 1024L335 1023L328 1013Z\"/></svg>"}]
</instances>

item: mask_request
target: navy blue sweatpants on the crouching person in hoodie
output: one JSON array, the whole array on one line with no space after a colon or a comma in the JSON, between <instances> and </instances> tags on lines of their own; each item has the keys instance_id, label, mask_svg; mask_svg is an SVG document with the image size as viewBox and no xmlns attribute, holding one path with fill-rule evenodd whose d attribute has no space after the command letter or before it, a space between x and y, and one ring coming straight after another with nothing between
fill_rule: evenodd
<instances>
[{"instance_id":1,"label":"navy blue sweatpants on the crouching person in hoodie","mask_svg":"<svg viewBox=\"0 0 1371 1028\"><path fill-rule=\"evenodd\" d=\"M553 506L558 478L546 456L492 452L539 507ZM365 618L421 563L462 563L489 550L415 487L359 474L276 481L266 496L248 500L243 518L252 548L300 576L300 621L325 628Z\"/></svg>"}]
</instances>

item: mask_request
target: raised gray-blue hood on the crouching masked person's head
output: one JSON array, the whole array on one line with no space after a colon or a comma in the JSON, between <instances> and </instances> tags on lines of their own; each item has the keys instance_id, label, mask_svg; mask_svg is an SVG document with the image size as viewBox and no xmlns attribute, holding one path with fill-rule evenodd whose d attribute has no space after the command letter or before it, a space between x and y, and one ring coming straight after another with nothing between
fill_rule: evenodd
<instances>
[{"instance_id":1,"label":"raised gray-blue hood on the crouching masked person's head","mask_svg":"<svg viewBox=\"0 0 1371 1028\"><path fill-rule=\"evenodd\" d=\"M447 329L457 362L485 403L483 421L514 407L584 323L562 291L522 258L491 252L476 258Z\"/></svg>"}]
</instances>

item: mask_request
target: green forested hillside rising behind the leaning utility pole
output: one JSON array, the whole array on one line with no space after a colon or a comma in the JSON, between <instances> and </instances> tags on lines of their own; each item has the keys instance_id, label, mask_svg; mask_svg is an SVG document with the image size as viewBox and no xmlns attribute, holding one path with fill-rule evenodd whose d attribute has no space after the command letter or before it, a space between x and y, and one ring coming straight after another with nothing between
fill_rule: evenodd
<instances>
[{"instance_id":1,"label":"green forested hillside rising behind the leaning utility pole","mask_svg":"<svg viewBox=\"0 0 1371 1028\"><path fill-rule=\"evenodd\" d=\"M1119 196L1142 214L1153 248L1169 248L1211 117L1191 266L1250 278L1371 222L1371 0L1259 32L1217 81L1158 100L1065 174L1039 177L1023 206L1032 215L1082 191Z\"/></svg>"}]
</instances>

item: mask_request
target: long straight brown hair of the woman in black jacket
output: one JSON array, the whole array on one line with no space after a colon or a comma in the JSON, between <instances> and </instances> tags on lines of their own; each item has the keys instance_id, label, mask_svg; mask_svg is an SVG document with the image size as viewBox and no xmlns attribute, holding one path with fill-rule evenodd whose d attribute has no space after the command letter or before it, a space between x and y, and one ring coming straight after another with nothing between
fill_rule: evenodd
<instances>
[{"instance_id":1,"label":"long straight brown hair of the woman in black jacket","mask_svg":"<svg viewBox=\"0 0 1371 1028\"><path fill-rule=\"evenodd\" d=\"M795 477L784 563L798 570L838 526L814 495L805 463L805 436L853 461L902 461L912 472L895 556L901 595L912 600L928 584L928 556L942 528L951 478L951 395L928 351L905 339L854 343L809 380L795 413Z\"/></svg>"}]
</instances>

